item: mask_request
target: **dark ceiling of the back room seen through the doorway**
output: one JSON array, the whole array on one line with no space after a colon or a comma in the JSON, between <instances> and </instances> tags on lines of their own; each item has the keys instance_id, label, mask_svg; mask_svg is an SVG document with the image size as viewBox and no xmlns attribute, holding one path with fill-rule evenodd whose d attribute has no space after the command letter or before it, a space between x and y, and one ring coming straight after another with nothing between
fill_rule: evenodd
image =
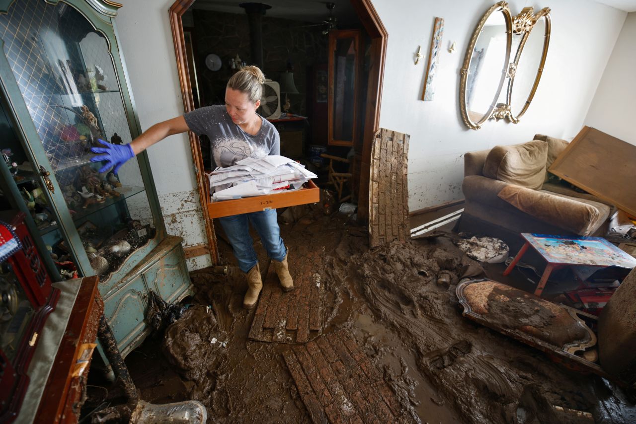
<instances>
[{"instance_id":1,"label":"dark ceiling of the back room seen through the doorway","mask_svg":"<svg viewBox=\"0 0 636 424\"><path fill-rule=\"evenodd\" d=\"M245 9L239 6L239 3L244 3L244 1L247 0L196 0L191 8L226 13L245 13ZM329 16L328 2L323 0L263 0L254 3L265 3L272 6L266 12L268 17L320 23ZM350 24L358 21L350 0L331 0L331 3L336 5L333 15L338 18L338 24Z\"/></svg>"}]
</instances>

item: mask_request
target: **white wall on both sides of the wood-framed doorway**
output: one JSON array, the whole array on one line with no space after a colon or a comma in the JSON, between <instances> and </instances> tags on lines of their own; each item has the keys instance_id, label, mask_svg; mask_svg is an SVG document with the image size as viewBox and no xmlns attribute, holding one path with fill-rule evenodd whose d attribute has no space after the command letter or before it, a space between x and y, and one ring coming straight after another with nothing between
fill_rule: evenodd
<instances>
[{"instance_id":1,"label":"white wall on both sides of the wood-framed doorway","mask_svg":"<svg viewBox=\"0 0 636 424\"><path fill-rule=\"evenodd\" d=\"M153 123L183 113L168 20L168 9L174 2L123 3L117 27L137 113L142 130L146 130ZM626 13L591 0L548 3L509 2L514 13L525 6L552 9L550 51L530 109L517 125L492 121L474 131L464 126L459 114L459 69L476 23L494 1L373 0L389 32L380 125L411 135L410 210L463 197L462 156L466 151L523 142L535 133L571 139L583 126ZM418 45L427 55L434 17L445 18L443 50L434 101L422 102L419 98L427 60L425 57L413 65L413 55ZM627 36L633 39L633 24L630 27L632 32ZM446 50L450 41L457 42L454 53ZM626 43L623 49L629 48ZM617 69L623 66L616 65ZM186 246L205 242L186 135L174 135L151 147L149 158L168 231L184 236ZM189 266L203 268L207 264L208 257L199 257Z\"/></svg>"}]
</instances>

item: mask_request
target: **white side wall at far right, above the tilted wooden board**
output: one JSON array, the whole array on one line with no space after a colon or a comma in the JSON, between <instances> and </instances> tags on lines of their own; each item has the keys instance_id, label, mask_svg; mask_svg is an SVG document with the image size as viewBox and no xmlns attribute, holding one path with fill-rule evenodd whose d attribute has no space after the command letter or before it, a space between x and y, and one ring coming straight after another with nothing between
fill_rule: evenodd
<instances>
[{"instance_id":1,"label":"white side wall at far right, above the tilted wooden board","mask_svg":"<svg viewBox=\"0 0 636 424\"><path fill-rule=\"evenodd\" d=\"M585 125L636 144L636 12L629 13L607 62Z\"/></svg>"}]
</instances>

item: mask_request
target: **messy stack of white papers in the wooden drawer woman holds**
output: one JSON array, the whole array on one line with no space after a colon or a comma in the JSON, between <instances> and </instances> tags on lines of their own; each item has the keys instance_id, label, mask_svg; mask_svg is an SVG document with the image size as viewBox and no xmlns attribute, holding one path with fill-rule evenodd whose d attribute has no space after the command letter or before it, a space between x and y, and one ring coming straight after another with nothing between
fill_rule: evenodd
<instances>
[{"instance_id":1,"label":"messy stack of white papers in the wooden drawer woman holds","mask_svg":"<svg viewBox=\"0 0 636 424\"><path fill-rule=\"evenodd\" d=\"M245 158L232 167L212 171L210 193L212 200L270 195L298 190L312 178L317 175L285 156Z\"/></svg>"}]
</instances>

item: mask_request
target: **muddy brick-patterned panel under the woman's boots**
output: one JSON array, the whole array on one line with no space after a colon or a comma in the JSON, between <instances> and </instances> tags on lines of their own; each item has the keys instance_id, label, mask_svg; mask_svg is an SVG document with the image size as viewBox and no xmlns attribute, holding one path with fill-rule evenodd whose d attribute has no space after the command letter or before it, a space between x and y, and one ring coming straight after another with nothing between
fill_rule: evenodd
<instances>
[{"instance_id":1,"label":"muddy brick-patterned panel under the woman's boots","mask_svg":"<svg viewBox=\"0 0 636 424\"><path fill-rule=\"evenodd\" d=\"M321 291L319 280L312 275L312 256L290 273L294 278L294 290L283 292L274 266L270 266L263 282L263 292L256 306L249 338L277 343L306 343L321 334Z\"/></svg>"}]
</instances>

